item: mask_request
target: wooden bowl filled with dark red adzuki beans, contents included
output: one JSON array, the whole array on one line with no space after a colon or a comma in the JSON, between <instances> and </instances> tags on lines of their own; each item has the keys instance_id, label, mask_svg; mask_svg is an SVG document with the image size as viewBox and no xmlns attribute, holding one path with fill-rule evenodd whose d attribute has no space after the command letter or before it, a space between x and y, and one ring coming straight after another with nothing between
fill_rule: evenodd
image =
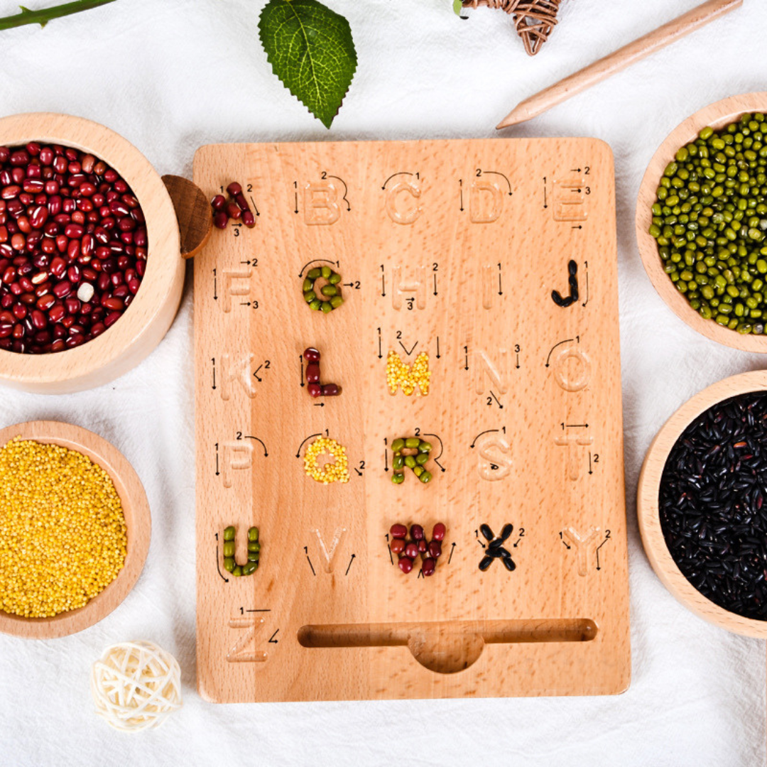
<instances>
[{"instance_id":1,"label":"wooden bowl filled with dark red adzuki beans, contents included","mask_svg":"<svg viewBox=\"0 0 767 767\"><path fill-rule=\"evenodd\" d=\"M181 299L173 202L114 131L59 114L0 119L0 381L104 384L160 342Z\"/></svg>"}]
</instances>

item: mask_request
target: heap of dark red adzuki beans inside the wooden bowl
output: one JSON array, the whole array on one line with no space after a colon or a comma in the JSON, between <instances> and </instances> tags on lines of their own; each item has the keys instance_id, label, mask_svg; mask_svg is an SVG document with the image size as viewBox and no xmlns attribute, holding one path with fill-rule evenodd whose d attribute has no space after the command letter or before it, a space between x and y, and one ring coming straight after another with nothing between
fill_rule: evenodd
<instances>
[{"instance_id":1,"label":"heap of dark red adzuki beans inside the wooden bowl","mask_svg":"<svg viewBox=\"0 0 767 767\"><path fill-rule=\"evenodd\" d=\"M137 197L103 160L0 146L0 349L64 351L103 333L140 288L147 246Z\"/></svg>"}]
</instances>

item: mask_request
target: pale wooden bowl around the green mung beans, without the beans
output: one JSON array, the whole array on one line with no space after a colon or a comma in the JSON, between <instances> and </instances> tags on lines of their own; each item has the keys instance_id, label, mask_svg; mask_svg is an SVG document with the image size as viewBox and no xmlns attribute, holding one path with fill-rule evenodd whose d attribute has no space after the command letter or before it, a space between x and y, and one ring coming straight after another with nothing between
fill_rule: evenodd
<instances>
[{"instance_id":1,"label":"pale wooden bowl around the green mung beans, without the beans","mask_svg":"<svg viewBox=\"0 0 767 767\"><path fill-rule=\"evenodd\" d=\"M742 351L762 353L767 353L767 334L760 336L743 335L729 328L723 328L713 320L704 319L690 306L687 299L680 291L676 290L669 275L663 271L663 262L658 255L657 242L648 230L653 219L651 208L656 200L655 192L658 183L663 177L666 166L674 159L676 150L695 140L700 130L707 125L714 129L722 128L739 120L742 114L746 112L763 112L765 110L767 110L767 91L742 94L717 101L716 104L710 104L680 123L669 133L666 140L653 155L653 159L650 160L650 165L647 166L637 198L636 216L637 244L647 276L674 314L682 318L691 328L713 339L713 341L719 341L720 344L742 349Z\"/></svg>"}]
</instances>

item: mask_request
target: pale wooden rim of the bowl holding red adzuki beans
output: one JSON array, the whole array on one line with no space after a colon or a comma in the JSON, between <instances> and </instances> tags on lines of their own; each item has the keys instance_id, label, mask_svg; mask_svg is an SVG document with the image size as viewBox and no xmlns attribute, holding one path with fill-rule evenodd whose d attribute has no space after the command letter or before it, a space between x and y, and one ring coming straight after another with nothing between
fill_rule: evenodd
<instances>
[{"instance_id":1,"label":"pale wooden rim of the bowl holding red adzuki beans","mask_svg":"<svg viewBox=\"0 0 767 767\"><path fill-rule=\"evenodd\" d=\"M120 320L100 336L55 354L16 354L0 349L0 378L40 387L81 380L113 364L128 348L142 344L173 293L181 239L173 202L160 175L132 143L114 130L66 114L38 112L0 118L0 146L21 146L33 140L94 154L117 170L141 203L150 249L136 298ZM151 206L146 205L146 200L152 201ZM150 285L153 289L146 289Z\"/></svg>"}]
</instances>

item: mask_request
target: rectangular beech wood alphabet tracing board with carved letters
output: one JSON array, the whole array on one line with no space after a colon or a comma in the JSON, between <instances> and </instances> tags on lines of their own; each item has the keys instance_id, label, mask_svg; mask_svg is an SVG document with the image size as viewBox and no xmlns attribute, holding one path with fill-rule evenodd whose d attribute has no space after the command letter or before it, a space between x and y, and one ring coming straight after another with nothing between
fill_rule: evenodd
<instances>
[{"instance_id":1,"label":"rectangular beech wood alphabet tracing board with carved letters","mask_svg":"<svg viewBox=\"0 0 767 767\"><path fill-rule=\"evenodd\" d=\"M216 145L197 152L194 180L209 198L237 180L258 211L255 229L216 230L194 259L202 696L626 690L609 147ZM344 304L327 315L301 291L316 259L343 277ZM579 296L563 308L551 291L568 295L571 260ZM313 400L301 387L308 346L340 397ZM408 364L429 354L428 397L389 393L390 349ZM347 484L304 474L304 440L326 430L347 449ZM418 433L434 446L433 480L406 470L394 485L389 446ZM390 525L418 523L428 535L440 521L433 577L400 572ZM496 535L514 525L515 571L500 561L479 570L482 523ZM260 528L249 577L223 568L227 525L241 563L247 529Z\"/></svg>"}]
</instances>

